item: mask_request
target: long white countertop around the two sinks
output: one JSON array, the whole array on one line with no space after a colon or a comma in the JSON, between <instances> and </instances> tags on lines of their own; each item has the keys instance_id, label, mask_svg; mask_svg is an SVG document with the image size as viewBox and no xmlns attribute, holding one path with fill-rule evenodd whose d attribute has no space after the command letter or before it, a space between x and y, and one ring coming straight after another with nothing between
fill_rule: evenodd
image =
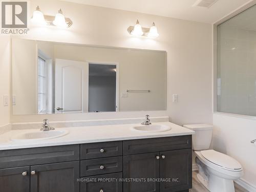
<instances>
[{"instance_id":1,"label":"long white countertop around the two sinks","mask_svg":"<svg viewBox=\"0 0 256 192\"><path fill-rule=\"evenodd\" d=\"M192 135L195 133L194 131L188 130L182 126L170 122L157 122L152 124L164 124L172 127L172 129L166 132L140 132L132 129L133 126L138 126L140 124L65 127L57 128L56 130L68 130L68 135L54 139L37 141L12 141L11 137L22 133L35 132L38 130L12 130L0 135L0 150L94 143L104 141L122 141L131 139L171 137Z\"/></svg>"}]
</instances>

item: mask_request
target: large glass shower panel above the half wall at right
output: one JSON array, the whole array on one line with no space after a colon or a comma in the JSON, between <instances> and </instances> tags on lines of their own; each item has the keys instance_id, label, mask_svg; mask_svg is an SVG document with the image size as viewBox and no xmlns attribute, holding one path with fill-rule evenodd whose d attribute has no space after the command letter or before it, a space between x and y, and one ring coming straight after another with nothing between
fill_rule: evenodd
<instances>
[{"instance_id":1,"label":"large glass shower panel above the half wall at right","mask_svg":"<svg viewBox=\"0 0 256 192\"><path fill-rule=\"evenodd\" d=\"M256 116L256 6L217 30L217 111Z\"/></svg>"}]
</instances>

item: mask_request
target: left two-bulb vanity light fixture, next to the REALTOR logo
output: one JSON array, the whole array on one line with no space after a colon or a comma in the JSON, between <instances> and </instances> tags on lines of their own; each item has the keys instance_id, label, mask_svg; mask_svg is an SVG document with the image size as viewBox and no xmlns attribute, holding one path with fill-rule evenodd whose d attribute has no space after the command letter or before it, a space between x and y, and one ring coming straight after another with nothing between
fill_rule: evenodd
<instances>
[{"instance_id":1,"label":"left two-bulb vanity light fixture, next to the REALTOR logo","mask_svg":"<svg viewBox=\"0 0 256 192\"><path fill-rule=\"evenodd\" d=\"M33 16L31 21L34 25L49 25L49 26L57 26L60 28L67 28L72 26L72 20L63 15L61 9L55 16L52 15L44 15L39 6L36 7L36 10L33 12Z\"/></svg>"}]
</instances>

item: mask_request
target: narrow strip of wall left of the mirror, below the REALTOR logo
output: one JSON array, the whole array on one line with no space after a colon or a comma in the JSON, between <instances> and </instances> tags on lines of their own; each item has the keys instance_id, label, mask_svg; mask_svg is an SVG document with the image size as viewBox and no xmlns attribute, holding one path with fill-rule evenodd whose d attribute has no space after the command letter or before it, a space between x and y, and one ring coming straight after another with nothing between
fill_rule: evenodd
<instances>
[{"instance_id":1,"label":"narrow strip of wall left of the mirror, below the REALTOR logo","mask_svg":"<svg viewBox=\"0 0 256 192\"><path fill-rule=\"evenodd\" d=\"M10 122L10 103L4 106L4 95L10 98L10 37L0 36L0 126ZM1 130L0 130L1 131Z\"/></svg>"}]
</instances>

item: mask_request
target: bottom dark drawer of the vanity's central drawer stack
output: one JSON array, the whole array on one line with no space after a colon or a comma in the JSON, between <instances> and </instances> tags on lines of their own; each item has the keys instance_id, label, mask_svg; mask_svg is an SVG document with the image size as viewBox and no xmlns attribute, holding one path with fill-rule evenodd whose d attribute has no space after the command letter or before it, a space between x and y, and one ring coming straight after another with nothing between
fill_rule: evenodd
<instances>
[{"instance_id":1,"label":"bottom dark drawer of the vanity's central drawer stack","mask_svg":"<svg viewBox=\"0 0 256 192\"><path fill-rule=\"evenodd\" d=\"M122 173L82 178L88 181L80 183L80 192L122 192L122 182L119 181L121 178Z\"/></svg>"}]
</instances>

